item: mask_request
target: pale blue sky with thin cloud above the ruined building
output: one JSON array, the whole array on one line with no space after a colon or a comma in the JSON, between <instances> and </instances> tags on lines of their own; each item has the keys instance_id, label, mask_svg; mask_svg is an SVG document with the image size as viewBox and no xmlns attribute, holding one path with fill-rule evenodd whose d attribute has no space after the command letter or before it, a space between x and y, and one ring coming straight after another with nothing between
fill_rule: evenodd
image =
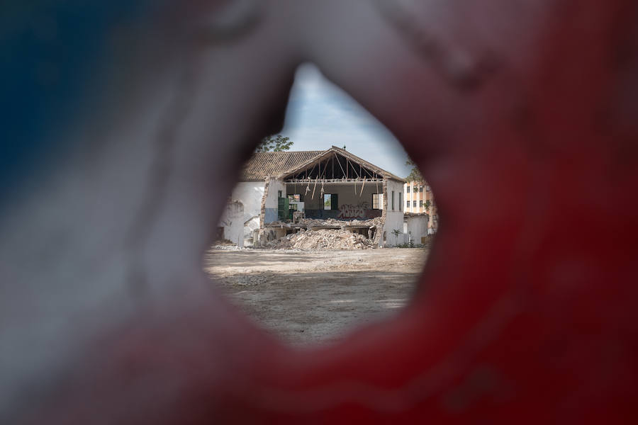
<instances>
[{"instance_id":1,"label":"pale blue sky with thin cloud above the ruined building","mask_svg":"<svg viewBox=\"0 0 638 425\"><path fill-rule=\"evenodd\" d=\"M410 173L408 154L384 125L312 64L297 70L282 135L291 150L323 150L335 145L400 177Z\"/></svg>"}]
</instances>

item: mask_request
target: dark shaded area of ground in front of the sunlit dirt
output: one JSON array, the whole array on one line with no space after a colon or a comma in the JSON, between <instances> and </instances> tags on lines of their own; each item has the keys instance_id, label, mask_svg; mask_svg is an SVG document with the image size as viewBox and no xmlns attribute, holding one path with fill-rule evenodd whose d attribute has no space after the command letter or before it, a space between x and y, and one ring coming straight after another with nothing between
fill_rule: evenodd
<instances>
[{"instance_id":1,"label":"dark shaded area of ground in front of the sunlit dirt","mask_svg":"<svg viewBox=\"0 0 638 425\"><path fill-rule=\"evenodd\" d=\"M419 274L266 272L212 279L259 327L291 344L315 344L396 314L407 305Z\"/></svg>"}]
</instances>

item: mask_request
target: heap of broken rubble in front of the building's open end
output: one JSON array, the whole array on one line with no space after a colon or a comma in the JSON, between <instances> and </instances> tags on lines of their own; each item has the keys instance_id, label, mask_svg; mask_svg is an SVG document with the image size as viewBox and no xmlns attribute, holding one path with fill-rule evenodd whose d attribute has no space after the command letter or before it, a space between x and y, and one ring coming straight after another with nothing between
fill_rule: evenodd
<instances>
[{"instance_id":1,"label":"heap of broken rubble in front of the building's open end","mask_svg":"<svg viewBox=\"0 0 638 425\"><path fill-rule=\"evenodd\" d=\"M370 239L347 230L301 230L266 244L271 249L372 249Z\"/></svg>"}]
</instances>

